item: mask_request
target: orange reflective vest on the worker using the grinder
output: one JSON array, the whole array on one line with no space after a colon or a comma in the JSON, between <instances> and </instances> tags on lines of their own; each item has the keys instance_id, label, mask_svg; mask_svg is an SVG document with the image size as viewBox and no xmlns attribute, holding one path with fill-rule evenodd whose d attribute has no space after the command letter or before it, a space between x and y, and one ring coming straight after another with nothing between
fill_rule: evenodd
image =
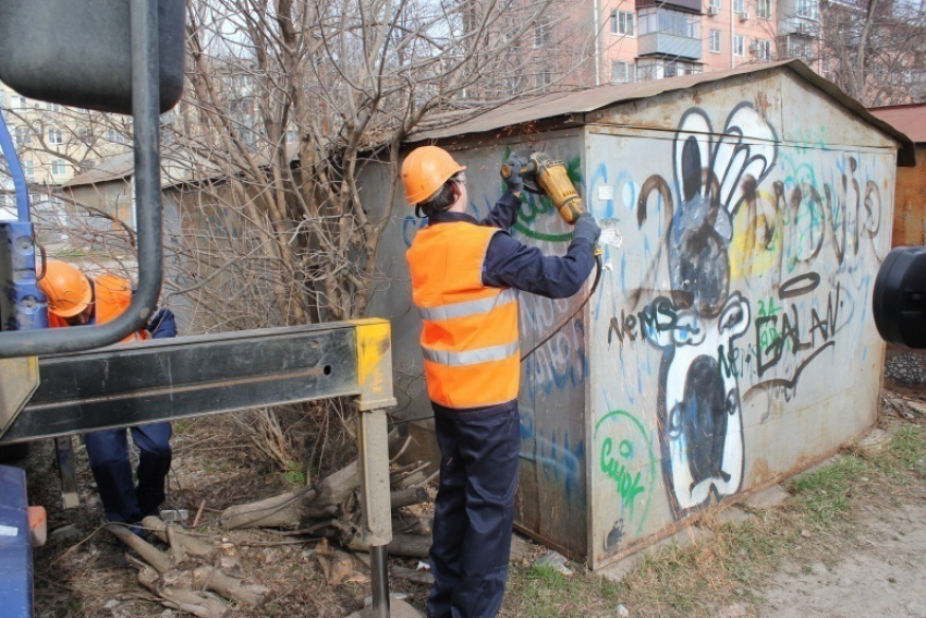
<instances>
[{"instance_id":1,"label":"orange reflective vest on the worker using the grinder","mask_svg":"<svg viewBox=\"0 0 926 618\"><path fill-rule=\"evenodd\" d=\"M447 408L517 398L517 293L483 284L489 241L500 230L465 221L418 231L406 256L422 314L428 396Z\"/></svg>"}]
</instances>

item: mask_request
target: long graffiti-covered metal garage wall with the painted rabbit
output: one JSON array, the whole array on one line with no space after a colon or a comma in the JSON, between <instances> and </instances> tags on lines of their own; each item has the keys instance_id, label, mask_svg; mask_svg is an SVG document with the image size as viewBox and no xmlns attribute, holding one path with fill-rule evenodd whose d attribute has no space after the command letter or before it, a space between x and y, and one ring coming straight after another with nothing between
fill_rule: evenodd
<instances>
[{"instance_id":1,"label":"long graffiti-covered metal garage wall with the painted rabbit","mask_svg":"<svg viewBox=\"0 0 926 618\"><path fill-rule=\"evenodd\" d=\"M594 120L587 193L623 240L589 308L599 567L874 423L895 154L783 72Z\"/></svg>"}]
</instances>

